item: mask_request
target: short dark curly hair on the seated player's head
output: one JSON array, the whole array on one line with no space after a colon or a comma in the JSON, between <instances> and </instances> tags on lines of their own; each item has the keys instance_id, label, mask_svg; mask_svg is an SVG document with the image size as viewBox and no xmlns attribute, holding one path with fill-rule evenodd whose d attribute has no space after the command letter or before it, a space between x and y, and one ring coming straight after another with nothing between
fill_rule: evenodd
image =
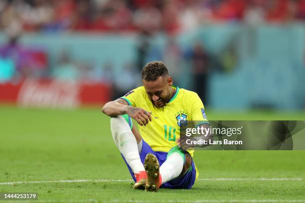
<instances>
[{"instance_id":1,"label":"short dark curly hair on the seated player's head","mask_svg":"<svg viewBox=\"0 0 305 203\"><path fill-rule=\"evenodd\" d=\"M160 76L168 74L166 66L161 61L152 61L142 70L142 80L155 81Z\"/></svg>"}]
</instances>

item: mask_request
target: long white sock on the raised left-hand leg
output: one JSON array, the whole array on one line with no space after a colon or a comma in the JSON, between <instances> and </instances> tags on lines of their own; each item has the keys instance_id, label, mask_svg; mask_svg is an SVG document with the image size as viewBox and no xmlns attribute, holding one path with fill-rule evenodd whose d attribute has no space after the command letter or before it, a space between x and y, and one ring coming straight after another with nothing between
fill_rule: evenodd
<instances>
[{"instance_id":1,"label":"long white sock on the raised left-hand leg","mask_svg":"<svg viewBox=\"0 0 305 203\"><path fill-rule=\"evenodd\" d=\"M110 126L112 137L132 171L134 173L145 171L140 159L136 138L123 116L112 117Z\"/></svg>"}]
</instances>

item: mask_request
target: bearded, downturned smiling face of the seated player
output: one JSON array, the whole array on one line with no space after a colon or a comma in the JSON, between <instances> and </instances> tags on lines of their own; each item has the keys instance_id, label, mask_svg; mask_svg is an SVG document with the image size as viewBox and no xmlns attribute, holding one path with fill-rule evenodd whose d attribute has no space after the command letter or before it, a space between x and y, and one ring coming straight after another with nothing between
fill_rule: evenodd
<instances>
[{"instance_id":1,"label":"bearded, downturned smiling face of the seated player","mask_svg":"<svg viewBox=\"0 0 305 203\"><path fill-rule=\"evenodd\" d=\"M145 91L156 107L163 107L172 96L172 79L168 76L160 76L155 81L143 80Z\"/></svg>"}]
</instances>

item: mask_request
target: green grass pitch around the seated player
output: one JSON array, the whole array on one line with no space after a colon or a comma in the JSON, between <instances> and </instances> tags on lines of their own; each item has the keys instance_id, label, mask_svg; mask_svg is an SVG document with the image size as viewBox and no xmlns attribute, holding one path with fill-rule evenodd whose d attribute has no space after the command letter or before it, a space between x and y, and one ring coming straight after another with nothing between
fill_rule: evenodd
<instances>
[{"instance_id":1,"label":"green grass pitch around the seated player","mask_svg":"<svg viewBox=\"0 0 305 203\"><path fill-rule=\"evenodd\" d=\"M206 113L215 120L305 120L304 112ZM0 193L35 192L33 202L54 203L305 202L305 151L196 151L194 160L200 180L191 190L136 191L99 108L0 106ZM29 181L37 183L6 184Z\"/></svg>"}]
</instances>

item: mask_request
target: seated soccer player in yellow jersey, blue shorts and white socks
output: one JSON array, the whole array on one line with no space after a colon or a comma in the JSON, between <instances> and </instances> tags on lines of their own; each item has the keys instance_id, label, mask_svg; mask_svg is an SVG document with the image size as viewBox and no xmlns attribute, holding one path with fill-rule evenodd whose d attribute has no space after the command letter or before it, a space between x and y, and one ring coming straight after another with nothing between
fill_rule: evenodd
<instances>
[{"instance_id":1,"label":"seated soccer player in yellow jersey, blue shorts and white socks","mask_svg":"<svg viewBox=\"0 0 305 203\"><path fill-rule=\"evenodd\" d=\"M143 86L106 103L113 139L133 176L135 189L190 189L198 177L193 150L180 147L182 120L207 125L203 103L194 92L173 85L165 65L148 63ZM139 123L139 131L132 119Z\"/></svg>"}]
</instances>

